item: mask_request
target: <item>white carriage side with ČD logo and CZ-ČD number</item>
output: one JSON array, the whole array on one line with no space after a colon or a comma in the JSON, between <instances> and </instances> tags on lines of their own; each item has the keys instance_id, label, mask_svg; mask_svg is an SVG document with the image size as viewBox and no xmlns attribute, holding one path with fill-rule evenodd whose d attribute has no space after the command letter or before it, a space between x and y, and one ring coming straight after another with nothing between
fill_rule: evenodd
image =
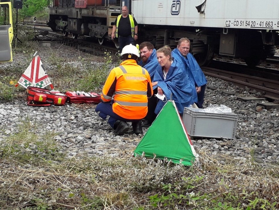
<instances>
[{"instance_id":1,"label":"white carriage side with \u010cD logo and CZ-\u010cD number","mask_svg":"<svg viewBox=\"0 0 279 210\"><path fill-rule=\"evenodd\" d=\"M279 30L277 0L134 0L140 24Z\"/></svg>"}]
</instances>

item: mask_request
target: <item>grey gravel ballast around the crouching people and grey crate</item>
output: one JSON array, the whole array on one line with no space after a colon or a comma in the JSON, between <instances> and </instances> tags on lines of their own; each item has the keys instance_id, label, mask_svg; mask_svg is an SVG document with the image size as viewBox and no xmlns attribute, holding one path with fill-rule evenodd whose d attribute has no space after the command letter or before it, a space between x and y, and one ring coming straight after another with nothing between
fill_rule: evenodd
<instances>
[{"instance_id":1,"label":"grey gravel ballast around the crouching people and grey crate","mask_svg":"<svg viewBox=\"0 0 279 210\"><path fill-rule=\"evenodd\" d=\"M62 54L93 57L71 49L67 46L57 46ZM47 53L41 49L41 59ZM66 56L68 57L68 56ZM23 57L16 55L13 64L17 66ZM95 62L98 59L95 59ZM30 61L29 61L30 62ZM27 61L27 63L29 64ZM44 62L46 70L55 67ZM28 66L27 64L27 66ZM24 70L23 70L24 71ZM249 159L253 158L261 163L279 162L279 114L277 109L258 109L258 102L268 101L240 101L237 97L254 96L248 89L239 88L221 79L207 77L208 84L205 91L204 107L225 105L238 115L236 135L234 139L193 138L192 142L197 153L207 150L213 154L228 154L230 156ZM232 92L234 94L225 94ZM100 93L100 92L99 92ZM24 91L12 102L0 102L0 140L18 132L18 124L22 120L30 120L37 124L40 134L53 131L55 140L69 157L77 154L88 156L118 156L124 150L133 151L144 134L132 133L132 127L127 134L116 136L108 123L95 112L93 104L66 104L65 106L34 107L27 106ZM255 93L256 94L256 93ZM148 128L143 128L144 133ZM222 128L220 128L222 129ZM175 132L175 131L170 131ZM251 153L252 152L252 153ZM128 155L132 155L130 152Z\"/></svg>"}]
</instances>

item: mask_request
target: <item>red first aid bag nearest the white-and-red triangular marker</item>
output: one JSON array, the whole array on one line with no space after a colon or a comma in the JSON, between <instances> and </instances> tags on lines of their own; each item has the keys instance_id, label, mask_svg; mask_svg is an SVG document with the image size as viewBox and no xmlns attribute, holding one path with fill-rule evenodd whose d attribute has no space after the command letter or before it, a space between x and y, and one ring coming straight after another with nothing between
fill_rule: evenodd
<instances>
[{"instance_id":1,"label":"red first aid bag nearest the white-and-red triangular marker","mask_svg":"<svg viewBox=\"0 0 279 210\"><path fill-rule=\"evenodd\" d=\"M60 91L30 86L27 87L26 95L27 105L30 106L50 106L52 104L62 106L65 105L68 98Z\"/></svg>"}]
</instances>

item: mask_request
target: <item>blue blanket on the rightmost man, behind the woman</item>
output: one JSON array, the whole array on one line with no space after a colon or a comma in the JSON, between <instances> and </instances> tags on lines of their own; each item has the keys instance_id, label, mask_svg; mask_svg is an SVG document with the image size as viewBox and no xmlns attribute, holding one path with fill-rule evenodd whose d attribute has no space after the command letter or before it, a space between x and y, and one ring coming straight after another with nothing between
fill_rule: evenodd
<instances>
[{"instance_id":1,"label":"blue blanket on the rightmost man, behind the woman","mask_svg":"<svg viewBox=\"0 0 279 210\"><path fill-rule=\"evenodd\" d=\"M207 84L207 80L198 62L191 53L188 53L186 58L179 52L177 48L171 51L171 56L185 65L189 74L189 78L195 86L201 87Z\"/></svg>"}]
</instances>

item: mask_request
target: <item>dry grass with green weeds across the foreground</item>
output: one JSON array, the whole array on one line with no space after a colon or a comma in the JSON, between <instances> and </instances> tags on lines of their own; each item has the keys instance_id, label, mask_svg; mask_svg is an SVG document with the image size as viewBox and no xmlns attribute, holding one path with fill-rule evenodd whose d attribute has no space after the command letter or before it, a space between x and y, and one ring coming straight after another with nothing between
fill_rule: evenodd
<instances>
[{"instance_id":1,"label":"dry grass with green weeds across the foreground","mask_svg":"<svg viewBox=\"0 0 279 210\"><path fill-rule=\"evenodd\" d=\"M133 149L118 157L25 163L15 161L13 155L1 159L1 209L213 209L218 202L231 204L233 209L238 203L239 209L253 209L255 199L259 201L254 209L258 209L264 202L271 206L278 201L276 165L263 167L199 151L199 162L184 167L134 158ZM172 193L184 197L174 198ZM149 197L156 194L168 198L167 202L160 200L157 207L152 206L156 202ZM273 209L278 208L276 203Z\"/></svg>"}]
</instances>

